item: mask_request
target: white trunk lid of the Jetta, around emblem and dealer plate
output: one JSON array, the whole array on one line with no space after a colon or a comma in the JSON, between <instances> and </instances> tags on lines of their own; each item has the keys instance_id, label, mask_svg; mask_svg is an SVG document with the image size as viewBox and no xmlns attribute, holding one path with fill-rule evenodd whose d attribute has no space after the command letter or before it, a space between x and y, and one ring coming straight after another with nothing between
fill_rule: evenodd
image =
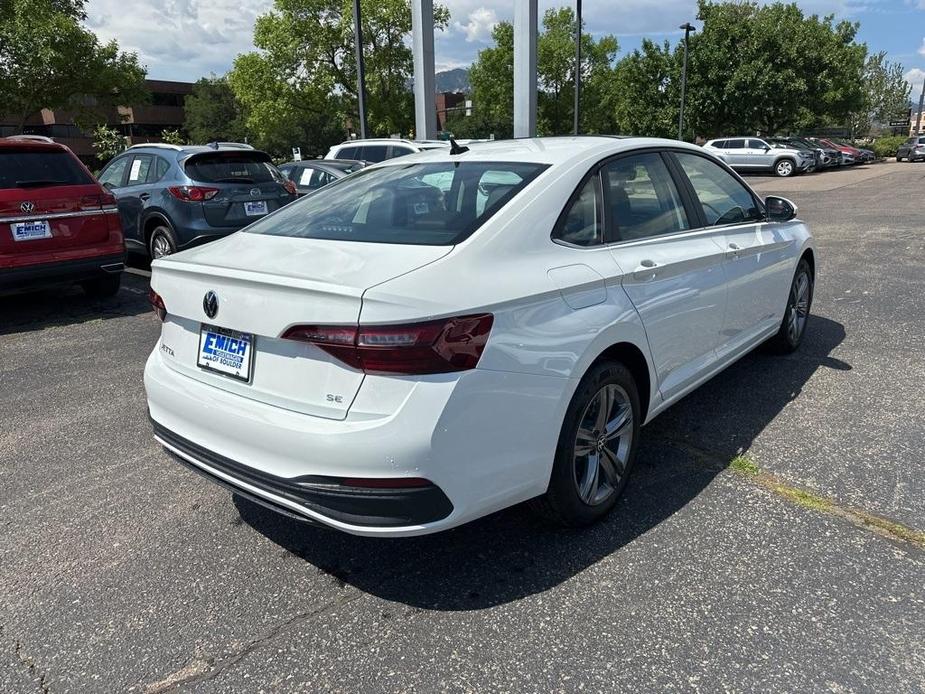
<instances>
[{"instance_id":1,"label":"white trunk lid of the Jetta, around emblem and dealer plate","mask_svg":"<svg viewBox=\"0 0 925 694\"><path fill-rule=\"evenodd\" d=\"M237 233L159 260L151 284L167 307L161 358L217 393L343 419L363 372L312 344L279 336L294 325L355 325L369 287L451 249ZM204 307L208 292L218 302L212 318ZM248 382L198 366L203 325L254 336Z\"/></svg>"}]
</instances>

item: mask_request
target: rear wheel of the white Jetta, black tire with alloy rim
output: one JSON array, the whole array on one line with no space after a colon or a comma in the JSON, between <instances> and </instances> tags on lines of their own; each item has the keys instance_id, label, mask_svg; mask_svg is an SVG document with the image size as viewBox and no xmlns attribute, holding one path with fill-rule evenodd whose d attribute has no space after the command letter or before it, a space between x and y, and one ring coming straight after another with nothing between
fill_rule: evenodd
<instances>
[{"instance_id":1,"label":"rear wheel of the white Jetta, black tire with alloy rim","mask_svg":"<svg viewBox=\"0 0 925 694\"><path fill-rule=\"evenodd\" d=\"M629 477L641 424L639 391L620 362L601 362L581 380L559 433L549 488L534 509L558 525L606 516Z\"/></svg>"}]
</instances>

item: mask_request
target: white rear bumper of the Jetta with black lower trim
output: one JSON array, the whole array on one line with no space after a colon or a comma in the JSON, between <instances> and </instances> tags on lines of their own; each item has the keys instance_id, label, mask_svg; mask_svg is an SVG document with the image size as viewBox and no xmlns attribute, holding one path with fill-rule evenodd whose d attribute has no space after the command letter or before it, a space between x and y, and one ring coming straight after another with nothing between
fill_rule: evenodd
<instances>
[{"instance_id":1,"label":"white rear bumper of the Jetta with black lower trim","mask_svg":"<svg viewBox=\"0 0 925 694\"><path fill-rule=\"evenodd\" d=\"M549 422L561 421L574 385L479 369L368 375L346 419L327 419L189 378L160 350L144 381L155 438L170 453L274 510L378 537L445 530L542 494L559 429ZM386 401L397 405L377 412ZM408 478L429 484L366 484Z\"/></svg>"}]
</instances>

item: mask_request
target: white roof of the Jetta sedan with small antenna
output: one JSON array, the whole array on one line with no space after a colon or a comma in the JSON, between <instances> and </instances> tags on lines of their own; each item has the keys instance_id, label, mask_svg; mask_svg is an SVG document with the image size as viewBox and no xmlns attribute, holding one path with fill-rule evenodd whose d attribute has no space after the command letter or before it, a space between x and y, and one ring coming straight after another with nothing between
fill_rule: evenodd
<instances>
[{"instance_id":1,"label":"white roof of the Jetta sedan with small antenna","mask_svg":"<svg viewBox=\"0 0 925 694\"><path fill-rule=\"evenodd\" d=\"M450 154L448 149L428 150L388 159L375 166L400 166L413 162L443 161L535 162L559 166L583 161L591 163L614 154L645 147L688 149L692 152L703 152L703 149L697 145L657 137L569 135L474 142L469 145L468 151L462 154Z\"/></svg>"}]
</instances>

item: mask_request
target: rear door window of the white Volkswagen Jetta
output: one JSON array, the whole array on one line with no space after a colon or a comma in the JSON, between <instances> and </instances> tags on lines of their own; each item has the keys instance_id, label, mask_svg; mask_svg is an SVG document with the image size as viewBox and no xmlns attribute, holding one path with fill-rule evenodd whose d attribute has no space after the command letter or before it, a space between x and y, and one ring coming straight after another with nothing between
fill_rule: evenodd
<instances>
[{"instance_id":1,"label":"rear door window of the white Volkswagen Jetta","mask_svg":"<svg viewBox=\"0 0 925 694\"><path fill-rule=\"evenodd\" d=\"M615 238L621 241L690 229L687 212L661 155L634 154L601 171Z\"/></svg>"}]
</instances>

